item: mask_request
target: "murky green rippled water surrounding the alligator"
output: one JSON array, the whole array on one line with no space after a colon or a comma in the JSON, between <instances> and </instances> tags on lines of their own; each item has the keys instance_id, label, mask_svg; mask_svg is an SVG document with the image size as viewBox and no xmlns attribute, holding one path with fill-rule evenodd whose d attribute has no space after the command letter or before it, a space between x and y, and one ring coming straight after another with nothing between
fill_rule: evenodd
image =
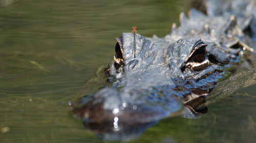
<instances>
[{"instance_id":1,"label":"murky green rippled water surrounding the alligator","mask_svg":"<svg viewBox=\"0 0 256 143\"><path fill-rule=\"evenodd\" d=\"M132 26L143 36L164 36L189 7L102 0L0 7L0 142L106 142L72 117L68 101L105 84L95 76L113 60L115 37ZM201 119L164 119L131 142L254 142L256 75L244 69L239 90L223 81Z\"/></svg>"}]
</instances>

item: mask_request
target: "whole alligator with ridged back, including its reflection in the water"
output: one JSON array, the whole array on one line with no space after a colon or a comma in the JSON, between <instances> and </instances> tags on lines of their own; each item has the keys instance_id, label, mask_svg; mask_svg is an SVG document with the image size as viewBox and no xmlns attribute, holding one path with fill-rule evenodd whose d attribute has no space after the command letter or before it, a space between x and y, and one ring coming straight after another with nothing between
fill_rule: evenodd
<instances>
[{"instance_id":1,"label":"whole alligator with ridged back, including its reflection in the water","mask_svg":"<svg viewBox=\"0 0 256 143\"><path fill-rule=\"evenodd\" d=\"M75 115L105 139L129 140L177 111L186 118L207 112L206 97L225 65L254 52L256 3L205 4L207 15L195 9L189 18L181 13L180 26L173 24L163 38L116 38L115 62L107 71L113 84L81 98Z\"/></svg>"}]
</instances>

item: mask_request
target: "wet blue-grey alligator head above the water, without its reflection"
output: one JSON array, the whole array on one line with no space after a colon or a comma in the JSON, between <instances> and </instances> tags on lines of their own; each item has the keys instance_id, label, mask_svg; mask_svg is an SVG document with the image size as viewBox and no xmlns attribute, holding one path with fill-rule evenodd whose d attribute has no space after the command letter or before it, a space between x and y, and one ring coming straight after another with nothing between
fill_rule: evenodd
<instances>
[{"instance_id":1,"label":"wet blue-grey alligator head above the water, without its reflection","mask_svg":"<svg viewBox=\"0 0 256 143\"><path fill-rule=\"evenodd\" d=\"M115 117L119 123L154 122L170 116L181 109L192 91L196 93L200 79L215 73L212 78L216 79L211 81L217 80L221 70L210 63L206 46L197 37L169 44L123 33L117 39L116 62L109 69L112 87L82 98L82 106L75 112L88 122L98 123L113 122ZM204 90L214 85L207 82Z\"/></svg>"}]
</instances>

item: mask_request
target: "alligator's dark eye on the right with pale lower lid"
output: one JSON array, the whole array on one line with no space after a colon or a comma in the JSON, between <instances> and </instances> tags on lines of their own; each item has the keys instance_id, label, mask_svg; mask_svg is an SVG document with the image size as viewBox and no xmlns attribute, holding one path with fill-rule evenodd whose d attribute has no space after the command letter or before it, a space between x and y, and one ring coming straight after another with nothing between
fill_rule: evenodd
<instances>
[{"instance_id":1,"label":"alligator's dark eye on the right with pale lower lid","mask_svg":"<svg viewBox=\"0 0 256 143\"><path fill-rule=\"evenodd\" d=\"M201 45L192 52L186 62L185 68L191 68L193 70L203 70L209 66L209 61L206 55L207 45Z\"/></svg>"}]
</instances>

